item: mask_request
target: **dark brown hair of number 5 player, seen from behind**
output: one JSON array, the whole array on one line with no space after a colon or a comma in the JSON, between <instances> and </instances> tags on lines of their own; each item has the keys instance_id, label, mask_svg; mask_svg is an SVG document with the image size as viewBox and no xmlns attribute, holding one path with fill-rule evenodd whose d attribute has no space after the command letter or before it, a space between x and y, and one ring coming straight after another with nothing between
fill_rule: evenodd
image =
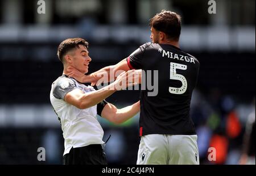
<instances>
[{"instance_id":1,"label":"dark brown hair of number 5 player, seen from behind","mask_svg":"<svg viewBox=\"0 0 256 176\"><path fill-rule=\"evenodd\" d=\"M181 16L172 11L162 10L150 19L150 27L166 33L167 37L179 41L181 31Z\"/></svg>"}]
</instances>

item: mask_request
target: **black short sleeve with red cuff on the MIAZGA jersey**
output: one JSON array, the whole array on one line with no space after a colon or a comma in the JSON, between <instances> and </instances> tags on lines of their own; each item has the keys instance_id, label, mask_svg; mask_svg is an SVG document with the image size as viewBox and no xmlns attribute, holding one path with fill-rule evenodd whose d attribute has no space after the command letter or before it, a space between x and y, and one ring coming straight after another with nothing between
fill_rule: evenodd
<instances>
[{"instance_id":1,"label":"black short sleeve with red cuff on the MIAZGA jersey","mask_svg":"<svg viewBox=\"0 0 256 176\"><path fill-rule=\"evenodd\" d=\"M142 46L140 46L137 50L135 50L128 58L127 64L130 69L141 69L142 68L142 59L144 55L144 51L147 46L150 45L151 42L148 42Z\"/></svg>"}]
</instances>

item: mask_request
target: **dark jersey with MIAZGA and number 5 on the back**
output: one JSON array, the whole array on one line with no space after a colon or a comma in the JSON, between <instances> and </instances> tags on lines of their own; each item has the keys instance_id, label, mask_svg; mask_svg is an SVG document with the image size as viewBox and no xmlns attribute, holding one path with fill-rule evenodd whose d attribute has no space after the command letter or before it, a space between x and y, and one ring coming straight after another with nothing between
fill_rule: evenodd
<instances>
[{"instance_id":1,"label":"dark jersey with MIAZGA and number 5 on the back","mask_svg":"<svg viewBox=\"0 0 256 176\"><path fill-rule=\"evenodd\" d=\"M146 78L150 76L147 71L158 71L158 94L148 96L147 87L141 91L140 135L195 135L189 111L199 61L175 46L148 42L135 50L127 63L131 69L145 71Z\"/></svg>"}]
</instances>

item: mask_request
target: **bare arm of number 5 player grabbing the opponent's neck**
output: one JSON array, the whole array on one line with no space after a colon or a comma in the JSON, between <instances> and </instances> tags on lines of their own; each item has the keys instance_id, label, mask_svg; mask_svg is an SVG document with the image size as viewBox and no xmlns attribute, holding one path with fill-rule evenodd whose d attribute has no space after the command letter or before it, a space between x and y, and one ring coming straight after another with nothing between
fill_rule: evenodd
<instances>
[{"instance_id":1,"label":"bare arm of number 5 player grabbing the opponent's neck","mask_svg":"<svg viewBox=\"0 0 256 176\"><path fill-rule=\"evenodd\" d=\"M121 62L117 63L116 65L107 66L101 68L100 70L93 72L90 75L84 75L80 71L78 71L74 67L68 67L68 76L73 77L76 80L80 81L81 83L92 83L92 85L96 85L96 82L102 78L104 75L108 75L108 81L114 81L122 71L129 71L130 68L127 64L126 59L123 59ZM119 74L117 74L119 72ZM110 76L110 75L113 76Z\"/></svg>"}]
</instances>

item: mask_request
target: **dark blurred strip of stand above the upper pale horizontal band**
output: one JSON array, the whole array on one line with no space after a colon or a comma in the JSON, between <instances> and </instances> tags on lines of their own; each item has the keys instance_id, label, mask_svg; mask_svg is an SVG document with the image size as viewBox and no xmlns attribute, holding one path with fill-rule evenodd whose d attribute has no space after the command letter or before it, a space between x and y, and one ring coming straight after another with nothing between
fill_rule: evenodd
<instances>
[{"instance_id":1,"label":"dark blurred strip of stand above the upper pale horizontal band","mask_svg":"<svg viewBox=\"0 0 256 176\"><path fill-rule=\"evenodd\" d=\"M2 24L77 24L91 19L100 24L147 24L162 9L178 12L188 25L254 25L254 0L215 0L208 14L205 0L44 0L46 14L37 13L37 0L2 0Z\"/></svg>"}]
</instances>

